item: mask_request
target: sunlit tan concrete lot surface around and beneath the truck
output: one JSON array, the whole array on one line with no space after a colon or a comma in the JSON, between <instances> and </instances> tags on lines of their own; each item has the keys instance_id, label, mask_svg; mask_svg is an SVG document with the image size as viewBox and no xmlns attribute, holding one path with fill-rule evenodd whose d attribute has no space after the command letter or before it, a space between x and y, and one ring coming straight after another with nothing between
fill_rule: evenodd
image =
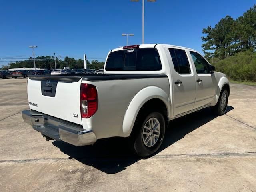
<instances>
[{"instance_id":1,"label":"sunlit tan concrete lot surface around and beneath the truck","mask_svg":"<svg viewBox=\"0 0 256 192\"><path fill-rule=\"evenodd\" d=\"M256 87L231 85L228 112L174 120L159 152L133 156L120 139L46 142L23 122L26 79L0 79L0 191L256 192Z\"/></svg>"}]
</instances>

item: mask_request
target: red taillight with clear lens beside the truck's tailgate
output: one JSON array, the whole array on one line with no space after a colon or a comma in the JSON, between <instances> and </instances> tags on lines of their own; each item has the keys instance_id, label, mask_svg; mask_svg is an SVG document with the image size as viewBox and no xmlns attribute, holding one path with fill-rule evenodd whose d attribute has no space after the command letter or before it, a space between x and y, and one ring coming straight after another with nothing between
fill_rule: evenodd
<instances>
[{"instance_id":1,"label":"red taillight with clear lens beside the truck's tailgate","mask_svg":"<svg viewBox=\"0 0 256 192\"><path fill-rule=\"evenodd\" d=\"M94 85L87 83L81 84L80 107L82 118L90 118L97 111L97 89Z\"/></svg>"}]
</instances>

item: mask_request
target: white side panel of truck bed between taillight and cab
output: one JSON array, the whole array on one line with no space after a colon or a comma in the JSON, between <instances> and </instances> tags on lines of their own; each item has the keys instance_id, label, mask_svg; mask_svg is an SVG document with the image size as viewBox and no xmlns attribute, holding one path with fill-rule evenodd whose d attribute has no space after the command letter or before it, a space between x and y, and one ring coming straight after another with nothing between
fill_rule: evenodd
<instances>
[{"instance_id":1,"label":"white side panel of truck bed between taillight and cab","mask_svg":"<svg viewBox=\"0 0 256 192\"><path fill-rule=\"evenodd\" d=\"M82 83L93 84L98 92L98 110L91 118L83 118L82 124L84 129L92 130L98 139L113 136L127 137L134 124L134 118L140 110L143 102L146 102L154 92L143 94L142 102L134 102L134 113L126 114L131 101L141 90L154 87L166 93L166 98L170 95L168 78L144 78L144 79L125 79L125 80L106 80L106 81L82 81ZM160 93L159 92L159 93ZM158 96L156 96L158 97ZM165 101L168 103L169 101ZM132 106L134 108L134 106ZM128 125L124 128L124 116ZM130 122L130 125L129 125Z\"/></svg>"}]
</instances>

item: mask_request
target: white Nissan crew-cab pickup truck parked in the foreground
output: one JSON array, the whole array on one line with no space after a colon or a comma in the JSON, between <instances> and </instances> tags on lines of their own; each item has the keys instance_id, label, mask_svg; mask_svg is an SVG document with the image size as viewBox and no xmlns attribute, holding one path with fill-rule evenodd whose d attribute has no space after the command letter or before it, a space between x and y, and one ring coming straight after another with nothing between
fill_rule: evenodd
<instances>
[{"instance_id":1,"label":"white Nissan crew-cab pickup truck parked in the foreground","mask_svg":"<svg viewBox=\"0 0 256 192\"><path fill-rule=\"evenodd\" d=\"M206 107L226 112L230 84L197 51L167 44L116 48L104 75L29 76L25 122L46 140L75 146L129 137L136 154L154 154L168 122Z\"/></svg>"}]
</instances>

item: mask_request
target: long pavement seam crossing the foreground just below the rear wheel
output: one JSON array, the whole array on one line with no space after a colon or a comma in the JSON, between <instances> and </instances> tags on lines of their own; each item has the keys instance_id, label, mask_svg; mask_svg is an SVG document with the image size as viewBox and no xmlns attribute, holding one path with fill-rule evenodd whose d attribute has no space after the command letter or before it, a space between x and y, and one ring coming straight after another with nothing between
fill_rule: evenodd
<instances>
[{"instance_id":1,"label":"long pavement seam crossing the foreground just below the rear wheel","mask_svg":"<svg viewBox=\"0 0 256 192\"><path fill-rule=\"evenodd\" d=\"M256 152L245 152L245 153L202 153L202 154L156 154L150 158L172 158L172 157L179 157L179 156L190 156L190 157L209 157L209 156L251 156L251 155L256 155ZM0 164L2 163L23 163L23 162L38 162L38 161L44 161L44 160L82 160L82 159L86 159L88 157L72 157L72 158L32 158L32 159L17 159L17 160L0 160ZM136 157L135 157L136 158ZM94 158L88 158L90 159L90 161L109 161L111 160L129 160L129 159L134 159L134 158L127 158L127 157L122 157L122 158L104 158L104 157L94 157Z\"/></svg>"}]
</instances>

